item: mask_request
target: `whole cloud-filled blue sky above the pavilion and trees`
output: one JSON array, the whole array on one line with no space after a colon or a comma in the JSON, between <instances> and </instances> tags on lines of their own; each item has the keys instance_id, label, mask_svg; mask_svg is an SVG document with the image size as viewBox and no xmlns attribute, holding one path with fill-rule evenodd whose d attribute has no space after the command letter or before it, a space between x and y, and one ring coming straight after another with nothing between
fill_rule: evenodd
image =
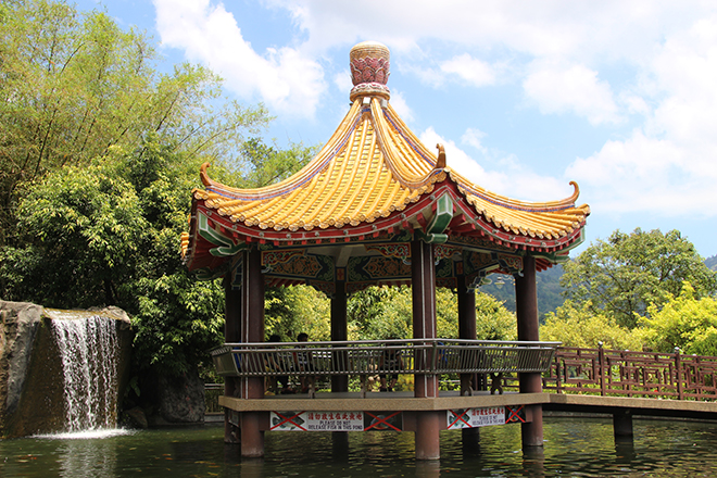
<instances>
[{"instance_id":1,"label":"whole cloud-filled blue sky above the pavilion and trees","mask_svg":"<svg viewBox=\"0 0 717 478\"><path fill-rule=\"evenodd\" d=\"M206 65L276 116L279 144L326 141L349 51L391 50L391 104L448 164L516 199L588 203L586 246L679 229L717 254L717 3L710 1L79 0L147 30L166 67ZM581 247L579 252L584 248Z\"/></svg>"}]
</instances>

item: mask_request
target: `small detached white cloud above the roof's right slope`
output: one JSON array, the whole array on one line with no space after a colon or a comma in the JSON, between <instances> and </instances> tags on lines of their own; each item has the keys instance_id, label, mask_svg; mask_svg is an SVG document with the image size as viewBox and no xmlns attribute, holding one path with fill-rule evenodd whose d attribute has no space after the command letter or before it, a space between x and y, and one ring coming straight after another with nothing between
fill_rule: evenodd
<instances>
[{"instance_id":1,"label":"small detached white cloud above the roof's right slope","mask_svg":"<svg viewBox=\"0 0 717 478\"><path fill-rule=\"evenodd\" d=\"M536 62L530 70L523 87L542 113L571 111L593 125L620 121L611 87L598 79L598 72L584 65L552 62Z\"/></svg>"}]
</instances>

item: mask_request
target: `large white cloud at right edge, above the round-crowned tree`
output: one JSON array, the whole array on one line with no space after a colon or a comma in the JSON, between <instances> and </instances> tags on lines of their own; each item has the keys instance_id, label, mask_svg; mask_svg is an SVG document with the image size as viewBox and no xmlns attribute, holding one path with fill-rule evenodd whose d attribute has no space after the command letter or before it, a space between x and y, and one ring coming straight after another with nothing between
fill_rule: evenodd
<instances>
[{"instance_id":1,"label":"large white cloud at right edge, above the round-crowned tree","mask_svg":"<svg viewBox=\"0 0 717 478\"><path fill-rule=\"evenodd\" d=\"M667 37L629 106L646 116L625 139L577 159L566 175L603 211L717 215L717 17Z\"/></svg>"}]
</instances>

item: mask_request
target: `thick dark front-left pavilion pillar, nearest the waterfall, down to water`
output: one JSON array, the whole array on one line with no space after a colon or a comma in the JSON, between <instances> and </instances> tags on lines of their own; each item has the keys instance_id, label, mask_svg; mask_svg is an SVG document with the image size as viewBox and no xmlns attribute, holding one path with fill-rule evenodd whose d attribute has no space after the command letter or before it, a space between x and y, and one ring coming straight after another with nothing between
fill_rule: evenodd
<instances>
[{"instance_id":1,"label":"thick dark front-left pavilion pillar, nearest the waterfall, down to water","mask_svg":"<svg viewBox=\"0 0 717 478\"><path fill-rule=\"evenodd\" d=\"M256 248L243 252L243 281L241 297L241 341L264 341L264 276L262 256ZM241 379L243 399L264 398L263 377L243 377ZM241 414L241 455L247 457L264 456L264 432L260 429L261 413Z\"/></svg>"}]
</instances>

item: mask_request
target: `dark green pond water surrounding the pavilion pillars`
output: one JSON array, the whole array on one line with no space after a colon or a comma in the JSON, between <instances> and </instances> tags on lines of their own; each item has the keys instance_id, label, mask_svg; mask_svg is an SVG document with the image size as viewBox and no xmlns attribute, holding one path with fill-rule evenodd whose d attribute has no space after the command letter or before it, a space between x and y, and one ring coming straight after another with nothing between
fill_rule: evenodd
<instances>
[{"instance_id":1,"label":"dark green pond water surrounding the pavilion pillars","mask_svg":"<svg viewBox=\"0 0 717 478\"><path fill-rule=\"evenodd\" d=\"M416 462L412 432L266 433L266 457L241 460L221 426L0 440L10 477L507 477L717 476L717 424L634 420L634 440L615 443L611 419L545 417L542 453L520 450L520 427L480 429L465 450L441 432L441 460Z\"/></svg>"}]
</instances>

